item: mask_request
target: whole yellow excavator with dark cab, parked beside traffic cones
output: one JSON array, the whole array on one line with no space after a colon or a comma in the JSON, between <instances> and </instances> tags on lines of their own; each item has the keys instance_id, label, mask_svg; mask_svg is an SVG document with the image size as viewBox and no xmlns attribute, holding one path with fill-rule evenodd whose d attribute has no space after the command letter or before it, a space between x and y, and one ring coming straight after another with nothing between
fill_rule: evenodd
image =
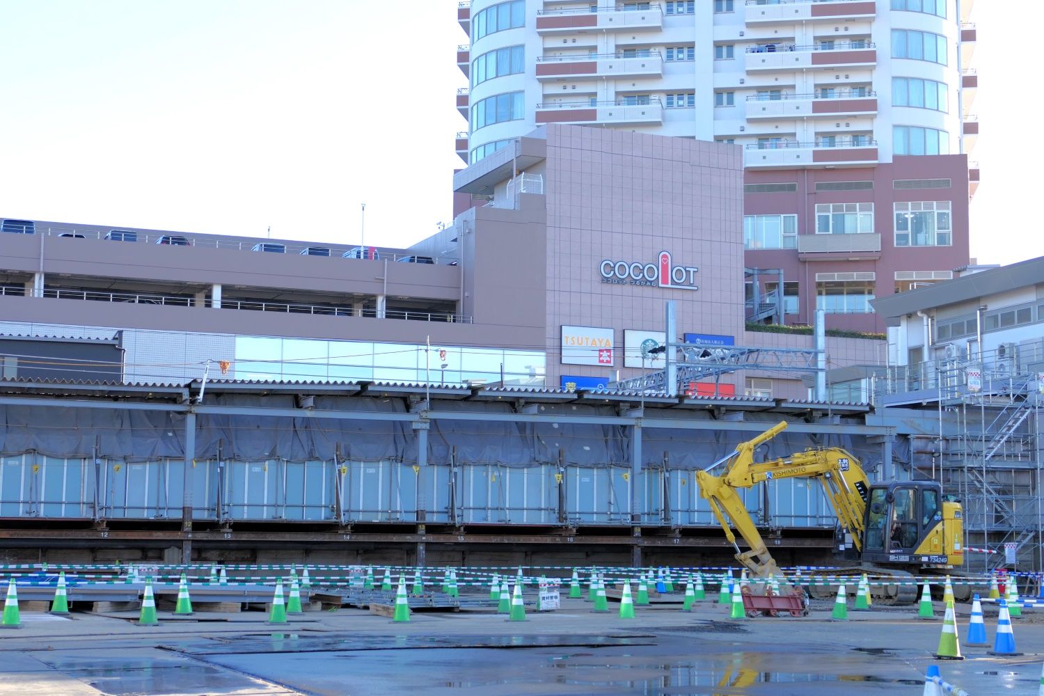
<instances>
[{"instance_id":1,"label":"whole yellow excavator with dark cab, parked beside traffic cones","mask_svg":"<svg viewBox=\"0 0 1044 696\"><path fill-rule=\"evenodd\" d=\"M769 428L705 471L696 472L699 494L736 548L736 559L757 578L781 576L750 511L737 493L776 479L814 479L823 486L844 530L859 552L860 566L830 575L893 576L896 584L875 584L874 601L912 602L916 586L901 582L912 573L940 572L964 562L960 503L945 500L935 481L870 483L859 460L841 448L810 449L779 459L755 461L757 448L786 429ZM725 473L711 472L725 466ZM735 527L750 547L741 551ZM959 599L959 598L958 598Z\"/></svg>"}]
</instances>

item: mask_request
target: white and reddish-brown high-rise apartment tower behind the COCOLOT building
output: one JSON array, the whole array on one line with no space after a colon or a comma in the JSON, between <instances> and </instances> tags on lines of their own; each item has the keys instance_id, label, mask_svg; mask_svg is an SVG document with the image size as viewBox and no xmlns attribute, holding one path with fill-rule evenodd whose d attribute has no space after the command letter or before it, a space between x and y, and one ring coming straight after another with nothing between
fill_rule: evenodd
<instances>
[{"instance_id":1,"label":"white and reddish-brown high-rise apartment tower behind the COCOLOT building","mask_svg":"<svg viewBox=\"0 0 1044 696\"><path fill-rule=\"evenodd\" d=\"M732 143L752 320L882 330L870 301L968 262L971 0L474 0L473 165L545 123ZM679 173L681 175L681 172Z\"/></svg>"}]
</instances>

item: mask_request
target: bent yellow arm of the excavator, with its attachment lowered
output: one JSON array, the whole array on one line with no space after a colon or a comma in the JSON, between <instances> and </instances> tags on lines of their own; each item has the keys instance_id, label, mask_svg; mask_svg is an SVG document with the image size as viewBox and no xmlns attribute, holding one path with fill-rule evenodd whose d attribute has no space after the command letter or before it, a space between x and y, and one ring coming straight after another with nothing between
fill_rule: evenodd
<instances>
[{"instance_id":1,"label":"bent yellow arm of the excavator, with its attachment lowered","mask_svg":"<svg viewBox=\"0 0 1044 696\"><path fill-rule=\"evenodd\" d=\"M699 494L710 504L726 537L736 548L736 559L755 577L780 575L780 570L737 490L753 488L764 481L784 478L818 481L838 520L851 531L856 548L862 549L863 513L870 482L858 459L840 448L824 448L768 461L754 461L758 446L783 432L786 425L785 421L781 422L757 437L741 442L731 456L722 460L727 469L721 476L714 476L709 471L696 472ZM740 550L733 528L743 537L750 550Z\"/></svg>"}]
</instances>

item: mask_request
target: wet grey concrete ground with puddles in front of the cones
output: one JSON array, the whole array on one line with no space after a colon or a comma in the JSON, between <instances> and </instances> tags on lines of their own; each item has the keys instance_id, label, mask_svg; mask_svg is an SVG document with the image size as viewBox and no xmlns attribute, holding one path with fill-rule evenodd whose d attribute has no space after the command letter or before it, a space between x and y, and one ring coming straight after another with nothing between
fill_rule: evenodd
<instances>
[{"instance_id":1,"label":"wet grey concrete ground with puddles in front of the cones","mask_svg":"<svg viewBox=\"0 0 1044 696\"><path fill-rule=\"evenodd\" d=\"M1014 620L1020 656L962 646L963 662L933 661L942 611L917 607L807 618L729 621L712 601L638 607L637 618L593 614L564 599L552 613L509 622L479 611L413 613L409 623L359 609L310 611L285 626L260 611L199 613L142 627L135 613L68 618L22 611L0 631L0 694L706 694L920 695L930 664L974 695L1038 693L1044 610ZM936 604L936 608L939 605ZM967 606L958 632L967 633ZM987 607L993 641L995 609Z\"/></svg>"}]
</instances>

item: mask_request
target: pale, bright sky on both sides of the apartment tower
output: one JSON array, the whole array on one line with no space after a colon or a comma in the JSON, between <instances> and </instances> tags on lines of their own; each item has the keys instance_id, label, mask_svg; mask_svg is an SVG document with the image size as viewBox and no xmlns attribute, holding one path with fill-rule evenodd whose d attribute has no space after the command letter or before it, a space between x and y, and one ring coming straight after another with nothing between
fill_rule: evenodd
<instances>
[{"instance_id":1,"label":"pale, bright sky on both sides of the apartment tower","mask_svg":"<svg viewBox=\"0 0 1044 696\"><path fill-rule=\"evenodd\" d=\"M710 2L710 0L702 0ZM1013 21L1011 7L1019 6ZM0 0L0 216L406 246L452 219L457 0ZM977 0L971 256L1044 255L1044 3ZM1025 230L1025 232L1024 232Z\"/></svg>"}]
</instances>

